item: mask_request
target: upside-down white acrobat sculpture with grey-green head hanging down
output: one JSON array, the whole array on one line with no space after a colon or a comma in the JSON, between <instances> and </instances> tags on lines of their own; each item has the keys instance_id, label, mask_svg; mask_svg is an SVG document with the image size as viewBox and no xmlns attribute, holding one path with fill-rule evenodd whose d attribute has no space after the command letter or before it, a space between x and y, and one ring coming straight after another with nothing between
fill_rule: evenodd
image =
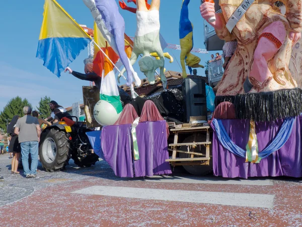
<instances>
[{"instance_id":1,"label":"upside-down white acrobat sculpture with grey-green head hanging down","mask_svg":"<svg viewBox=\"0 0 302 227\"><path fill-rule=\"evenodd\" d=\"M143 54L138 61L140 71L148 78L150 84L155 83L155 71L161 69L163 86L167 86L164 74L165 58L160 42L160 0L153 0L150 10L147 9L145 0L137 0L136 20L137 28L134 38L134 47L130 62L133 65L139 54ZM160 60L153 60L150 53L156 52ZM124 70L122 70L122 73Z\"/></svg>"}]
</instances>

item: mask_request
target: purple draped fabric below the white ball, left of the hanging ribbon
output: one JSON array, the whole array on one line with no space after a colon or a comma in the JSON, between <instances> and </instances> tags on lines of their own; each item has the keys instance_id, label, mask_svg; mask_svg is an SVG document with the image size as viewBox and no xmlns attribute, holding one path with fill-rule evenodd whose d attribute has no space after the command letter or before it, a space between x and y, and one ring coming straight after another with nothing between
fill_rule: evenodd
<instances>
[{"instance_id":1,"label":"purple draped fabric below the white ball, left of the hanging ribbon","mask_svg":"<svg viewBox=\"0 0 302 227\"><path fill-rule=\"evenodd\" d=\"M131 125L106 126L102 129L104 159L118 177L133 178L130 135Z\"/></svg>"}]
</instances>

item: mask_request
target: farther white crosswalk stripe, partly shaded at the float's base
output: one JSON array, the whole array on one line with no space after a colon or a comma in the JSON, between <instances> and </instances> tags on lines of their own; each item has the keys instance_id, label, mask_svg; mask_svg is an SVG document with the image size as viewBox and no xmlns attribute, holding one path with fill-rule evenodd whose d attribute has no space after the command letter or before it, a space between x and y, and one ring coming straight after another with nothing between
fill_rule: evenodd
<instances>
[{"instance_id":1,"label":"farther white crosswalk stripe, partly shaded at the float's base","mask_svg":"<svg viewBox=\"0 0 302 227\"><path fill-rule=\"evenodd\" d=\"M158 182L158 183L187 183L187 184L218 184L218 185L254 185L270 186L271 180L228 180L219 177L147 177L144 180L134 179L133 181Z\"/></svg>"}]
</instances>

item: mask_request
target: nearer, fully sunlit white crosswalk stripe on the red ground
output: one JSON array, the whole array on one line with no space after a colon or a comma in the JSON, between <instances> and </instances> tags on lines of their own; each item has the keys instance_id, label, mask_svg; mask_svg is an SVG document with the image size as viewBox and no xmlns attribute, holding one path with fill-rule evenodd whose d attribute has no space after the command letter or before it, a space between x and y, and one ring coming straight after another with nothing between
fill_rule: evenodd
<instances>
[{"instance_id":1,"label":"nearer, fully sunlit white crosswalk stripe on the red ground","mask_svg":"<svg viewBox=\"0 0 302 227\"><path fill-rule=\"evenodd\" d=\"M124 198L272 208L274 195L92 186L73 193Z\"/></svg>"}]
</instances>

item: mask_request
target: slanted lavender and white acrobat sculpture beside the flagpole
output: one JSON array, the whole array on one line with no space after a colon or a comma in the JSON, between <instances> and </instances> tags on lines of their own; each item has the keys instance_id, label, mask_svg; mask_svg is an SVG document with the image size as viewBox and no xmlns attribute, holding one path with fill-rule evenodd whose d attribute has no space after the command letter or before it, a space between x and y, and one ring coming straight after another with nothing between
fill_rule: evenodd
<instances>
[{"instance_id":1,"label":"slanted lavender and white acrobat sculpture beside the flagpole","mask_svg":"<svg viewBox=\"0 0 302 227\"><path fill-rule=\"evenodd\" d=\"M83 0L83 2L90 9L104 38L120 56L120 60L127 71L127 85L129 86L134 79L136 86L140 86L141 81L125 53L125 22L118 12L116 2L113 0Z\"/></svg>"}]
</instances>

